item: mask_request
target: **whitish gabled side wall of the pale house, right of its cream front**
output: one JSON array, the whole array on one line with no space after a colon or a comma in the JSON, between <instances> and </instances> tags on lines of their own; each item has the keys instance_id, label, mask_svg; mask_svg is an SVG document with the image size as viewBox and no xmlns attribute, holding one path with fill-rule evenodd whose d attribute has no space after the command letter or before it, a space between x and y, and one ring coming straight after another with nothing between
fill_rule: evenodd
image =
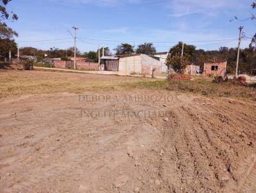
<instances>
[{"instance_id":1,"label":"whitish gabled side wall of the pale house, right of its cream front","mask_svg":"<svg viewBox=\"0 0 256 193\"><path fill-rule=\"evenodd\" d=\"M161 61L155 58L152 58L150 56L147 56L145 54L141 54L141 73L145 75L151 75L152 68L156 69L156 71L154 72L154 75L160 75Z\"/></svg>"}]
</instances>

